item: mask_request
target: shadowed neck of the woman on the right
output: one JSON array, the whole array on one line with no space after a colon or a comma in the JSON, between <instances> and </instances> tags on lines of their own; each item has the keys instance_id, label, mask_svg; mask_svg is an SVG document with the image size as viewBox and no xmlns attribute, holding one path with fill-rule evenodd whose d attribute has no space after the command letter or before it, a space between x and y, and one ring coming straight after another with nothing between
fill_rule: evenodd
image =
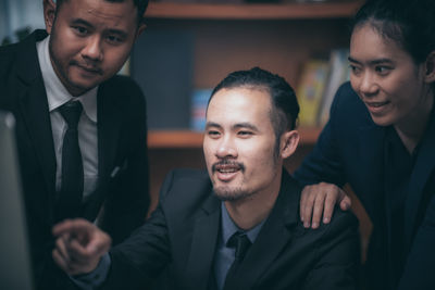
<instances>
[{"instance_id":1,"label":"shadowed neck of the woman on the right","mask_svg":"<svg viewBox=\"0 0 435 290\"><path fill-rule=\"evenodd\" d=\"M412 154L415 147L419 144L431 117L434 105L434 96L425 99L418 110L414 110L412 115L406 121L394 125L397 135L400 137L408 152Z\"/></svg>"}]
</instances>

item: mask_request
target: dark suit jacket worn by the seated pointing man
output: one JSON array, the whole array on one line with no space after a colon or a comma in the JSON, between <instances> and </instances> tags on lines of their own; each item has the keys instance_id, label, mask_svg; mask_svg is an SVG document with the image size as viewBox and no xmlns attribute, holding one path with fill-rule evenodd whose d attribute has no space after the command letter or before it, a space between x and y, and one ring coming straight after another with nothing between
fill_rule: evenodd
<instances>
[{"instance_id":1,"label":"dark suit jacket worn by the seated pointing man","mask_svg":"<svg viewBox=\"0 0 435 290\"><path fill-rule=\"evenodd\" d=\"M210 289L221 201L208 174L172 172L160 194L151 218L112 249L108 289L150 288L163 269L163 289ZM331 225L304 229L299 194L299 186L284 172L275 205L227 290L357 288L357 219L337 211Z\"/></svg>"}]
</instances>

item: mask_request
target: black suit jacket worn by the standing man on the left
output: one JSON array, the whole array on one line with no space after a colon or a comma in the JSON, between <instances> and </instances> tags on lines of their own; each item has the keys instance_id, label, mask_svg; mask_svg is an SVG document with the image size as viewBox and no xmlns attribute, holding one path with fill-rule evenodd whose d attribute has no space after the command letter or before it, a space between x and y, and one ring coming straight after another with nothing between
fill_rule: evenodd
<instances>
[{"instance_id":1,"label":"black suit jacket worn by the standing man on the left","mask_svg":"<svg viewBox=\"0 0 435 290\"><path fill-rule=\"evenodd\" d=\"M35 46L46 36L37 30L0 48L0 109L16 118L35 279L45 290L72 287L51 260L57 164ZM133 80L115 76L100 85L97 102L99 179L83 216L95 220L104 204L100 225L117 243L142 224L149 205L145 98Z\"/></svg>"}]
</instances>

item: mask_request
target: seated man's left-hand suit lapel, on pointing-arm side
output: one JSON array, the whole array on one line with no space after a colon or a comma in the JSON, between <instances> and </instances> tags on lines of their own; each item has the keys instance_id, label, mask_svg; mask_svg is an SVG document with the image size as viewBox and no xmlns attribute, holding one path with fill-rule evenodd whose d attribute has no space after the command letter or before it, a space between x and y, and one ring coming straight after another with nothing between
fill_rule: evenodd
<instances>
[{"instance_id":1,"label":"seated man's left-hand suit lapel, on pointing-arm side","mask_svg":"<svg viewBox=\"0 0 435 290\"><path fill-rule=\"evenodd\" d=\"M208 289L220 231L220 201L210 192L198 216L186 266L186 289Z\"/></svg>"}]
</instances>

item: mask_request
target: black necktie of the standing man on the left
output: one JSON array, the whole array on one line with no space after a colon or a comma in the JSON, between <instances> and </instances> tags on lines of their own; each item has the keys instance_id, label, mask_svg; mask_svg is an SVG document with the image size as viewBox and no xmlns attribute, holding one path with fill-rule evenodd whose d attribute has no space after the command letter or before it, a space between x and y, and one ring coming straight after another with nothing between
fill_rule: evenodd
<instances>
[{"instance_id":1,"label":"black necktie of the standing man on the left","mask_svg":"<svg viewBox=\"0 0 435 290\"><path fill-rule=\"evenodd\" d=\"M82 103L67 102L60 109L67 124L62 146L62 182L58 204L58 220L78 214L83 196L83 164L78 146L77 125L82 114Z\"/></svg>"}]
</instances>

